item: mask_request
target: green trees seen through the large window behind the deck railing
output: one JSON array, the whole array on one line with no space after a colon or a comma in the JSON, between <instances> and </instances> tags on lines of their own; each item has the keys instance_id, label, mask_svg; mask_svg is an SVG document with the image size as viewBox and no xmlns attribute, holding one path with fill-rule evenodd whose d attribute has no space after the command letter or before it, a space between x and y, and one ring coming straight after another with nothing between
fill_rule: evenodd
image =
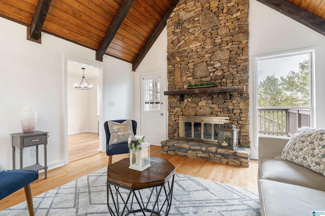
<instances>
[{"instance_id":1,"label":"green trees seen through the large window behind the deck railing","mask_svg":"<svg viewBox=\"0 0 325 216\"><path fill-rule=\"evenodd\" d=\"M279 78L268 75L258 82L258 107L309 107L309 60L299 63L298 71L290 70ZM258 73L258 76L262 75ZM260 131L286 132L286 111L258 112ZM274 134L275 135L275 134Z\"/></svg>"}]
</instances>

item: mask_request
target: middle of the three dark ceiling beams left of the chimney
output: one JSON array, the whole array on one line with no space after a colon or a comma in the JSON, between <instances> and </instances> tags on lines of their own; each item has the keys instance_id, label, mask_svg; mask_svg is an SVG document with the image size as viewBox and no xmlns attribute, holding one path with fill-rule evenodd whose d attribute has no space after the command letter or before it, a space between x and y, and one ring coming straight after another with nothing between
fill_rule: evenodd
<instances>
[{"instance_id":1,"label":"middle of the three dark ceiling beams left of the chimney","mask_svg":"<svg viewBox=\"0 0 325 216\"><path fill-rule=\"evenodd\" d=\"M96 60L103 61L103 56L106 53L108 46L110 46L117 30L121 26L124 18L126 17L128 11L131 9L134 0L124 0L120 9L118 10L111 26L106 32L105 37L103 38L101 45L99 46L98 50L96 51Z\"/></svg>"}]
</instances>

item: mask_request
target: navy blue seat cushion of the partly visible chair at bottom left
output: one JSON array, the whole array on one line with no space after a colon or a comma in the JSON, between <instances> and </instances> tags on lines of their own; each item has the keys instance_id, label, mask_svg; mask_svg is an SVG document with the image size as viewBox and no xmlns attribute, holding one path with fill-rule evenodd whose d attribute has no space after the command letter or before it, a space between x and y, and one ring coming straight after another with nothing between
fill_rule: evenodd
<instances>
[{"instance_id":1,"label":"navy blue seat cushion of the partly visible chair at bottom left","mask_svg":"<svg viewBox=\"0 0 325 216\"><path fill-rule=\"evenodd\" d=\"M34 170L7 170L0 172L0 200L37 180Z\"/></svg>"}]
</instances>

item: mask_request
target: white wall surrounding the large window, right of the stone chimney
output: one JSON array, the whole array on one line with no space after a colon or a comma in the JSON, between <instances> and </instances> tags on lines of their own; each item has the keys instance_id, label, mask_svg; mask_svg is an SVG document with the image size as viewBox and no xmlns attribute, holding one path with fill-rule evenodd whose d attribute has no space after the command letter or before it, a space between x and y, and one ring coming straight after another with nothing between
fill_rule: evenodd
<instances>
[{"instance_id":1,"label":"white wall surrounding the large window, right of the stone chimney","mask_svg":"<svg viewBox=\"0 0 325 216\"><path fill-rule=\"evenodd\" d=\"M276 54L287 51L315 47L315 125L325 127L325 37L314 30L290 19L279 12L257 2L249 1L249 73L250 73L250 141L252 156L257 157L257 143L254 135L253 109L256 102L254 92L253 58L267 54Z\"/></svg>"}]
</instances>

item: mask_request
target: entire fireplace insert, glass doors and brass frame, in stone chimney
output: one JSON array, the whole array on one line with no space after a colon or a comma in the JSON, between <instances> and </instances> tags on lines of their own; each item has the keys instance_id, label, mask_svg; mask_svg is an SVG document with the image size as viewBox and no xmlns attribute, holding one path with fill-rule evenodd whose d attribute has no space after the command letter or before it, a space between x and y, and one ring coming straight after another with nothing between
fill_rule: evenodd
<instances>
[{"instance_id":1,"label":"entire fireplace insert, glass doors and brass frame, in stone chimney","mask_svg":"<svg viewBox=\"0 0 325 216\"><path fill-rule=\"evenodd\" d=\"M179 140L218 145L220 124L229 117L179 116Z\"/></svg>"}]
</instances>

